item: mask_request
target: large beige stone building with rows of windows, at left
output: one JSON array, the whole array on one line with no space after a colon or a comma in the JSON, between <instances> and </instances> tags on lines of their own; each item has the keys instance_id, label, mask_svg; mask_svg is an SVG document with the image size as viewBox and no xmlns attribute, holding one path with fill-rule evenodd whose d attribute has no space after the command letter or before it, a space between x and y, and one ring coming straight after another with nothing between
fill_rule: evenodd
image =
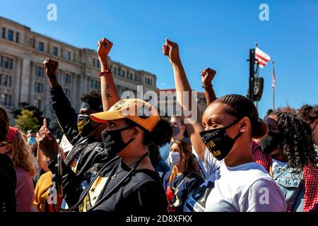
<instances>
[{"instance_id":1,"label":"large beige stone building with rows of windows, at left","mask_svg":"<svg viewBox=\"0 0 318 226\"><path fill-rule=\"evenodd\" d=\"M18 108L19 103L28 102L52 121L51 127L57 126L42 64L46 58L59 61L57 78L74 109L81 105L81 93L100 90L100 65L95 50L66 44L3 17L0 17L0 35L0 105L9 112ZM144 93L158 91L154 74L112 59L110 64L119 95L125 90L136 94L137 85L143 85Z\"/></svg>"}]
</instances>

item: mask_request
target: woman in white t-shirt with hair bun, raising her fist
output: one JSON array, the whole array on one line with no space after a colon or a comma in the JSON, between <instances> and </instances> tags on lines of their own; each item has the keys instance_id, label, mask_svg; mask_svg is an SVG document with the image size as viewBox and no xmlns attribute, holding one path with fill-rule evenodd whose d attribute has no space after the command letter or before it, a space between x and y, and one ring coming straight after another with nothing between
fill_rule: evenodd
<instances>
[{"instance_id":1,"label":"woman in white t-shirt with hair bun, raising her fist","mask_svg":"<svg viewBox=\"0 0 318 226\"><path fill-rule=\"evenodd\" d=\"M259 121L254 104L242 95L225 95L211 102L201 119L199 109L192 109L191 104L182 100L194 97L177 43L167 39L163 54L172 64L177 93L187 95L177 94L177 102L194 113L184 121L185 126L196 153L209 170L208 179L187 198L184 210L285 211L283 192L266 169L252 158L252 138L262 138L268 130Z\"/></svg>"}]
</instances>

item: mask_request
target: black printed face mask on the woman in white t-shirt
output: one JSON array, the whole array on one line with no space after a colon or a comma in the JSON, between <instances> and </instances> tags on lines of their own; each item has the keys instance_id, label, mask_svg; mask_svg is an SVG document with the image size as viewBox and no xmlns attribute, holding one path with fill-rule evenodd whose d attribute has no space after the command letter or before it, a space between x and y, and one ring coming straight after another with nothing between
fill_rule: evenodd
<instances>
[{"instance_id":1,"label":"black printed face mask on the woman in white t-shirt","mask_svg":"<svg viewBox=\"0 0 318 226\"><path fill-rule=\"evenodd\" d=\"M239 133L237 136L235 136L235 138L230 138L228 133L226 133L226 129L237 124L238 121L235 121L232 124L222 128L200 132L201 139L206 145L206 148L208 148L213 157L216 157L217 160L223 160L223 158L230 153L230 150L235 144L237 138L242 135L242 133Z\"/></svg>"}]
</instances>

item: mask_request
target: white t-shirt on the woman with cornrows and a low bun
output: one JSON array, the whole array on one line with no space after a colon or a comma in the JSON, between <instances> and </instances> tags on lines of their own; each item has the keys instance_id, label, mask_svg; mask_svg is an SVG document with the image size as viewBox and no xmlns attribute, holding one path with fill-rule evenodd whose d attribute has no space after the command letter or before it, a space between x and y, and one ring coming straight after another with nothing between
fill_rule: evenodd
<instances>
[{"instance_id":1,"label":"white t-shirt on the woman with cornrows and a low bun","mask_svg":"<svg viewBox=\"0 0 318 226\"><path fill-rule=\"evenodd\" d=\"M211 175L188 197L185 212L286 211L283 191L263 166L249 162L228 167L208 153L205 156Z\"/></svg>"}]
</instances>

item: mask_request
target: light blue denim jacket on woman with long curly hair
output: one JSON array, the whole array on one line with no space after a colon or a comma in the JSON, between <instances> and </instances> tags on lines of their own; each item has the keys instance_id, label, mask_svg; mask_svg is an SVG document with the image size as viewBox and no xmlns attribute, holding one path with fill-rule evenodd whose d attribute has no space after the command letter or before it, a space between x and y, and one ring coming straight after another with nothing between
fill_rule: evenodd
<instances>
[{"instance_id":1,"label":"light blue denim jacket on woman with long curly hair","mask_svg":"<svg viewBox=\"0 0 318 226\"><path fill-rule=\"evenodd\" d=\"M278 167L273 172L273 179L285 195L288 211L302 212L304 209L305 181L302 169L289 165Z\"/></svg>"}]
</instances>

